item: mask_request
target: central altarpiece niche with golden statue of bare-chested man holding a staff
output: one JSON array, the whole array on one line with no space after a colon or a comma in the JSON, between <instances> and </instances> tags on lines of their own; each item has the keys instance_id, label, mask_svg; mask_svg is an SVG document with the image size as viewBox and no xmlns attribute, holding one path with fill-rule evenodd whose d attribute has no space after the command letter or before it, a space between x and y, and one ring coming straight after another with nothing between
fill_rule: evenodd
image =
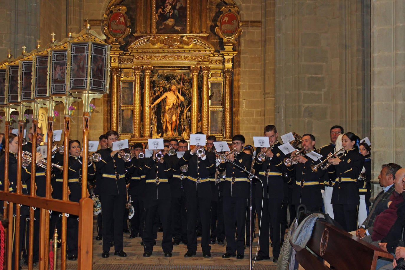
<instances>
[{"instance_id":1,"label":"central altarpiece niche with golden statue of bare-chested man holding a staff","mask_svg":"<svg viewBox=\"0 0 405 270\"><path fill-rule=\"evenodd\" d=\"M190 137L192 78L188 70L154 74L151 87L152 138Z\"/></svg>"}]
</instances>

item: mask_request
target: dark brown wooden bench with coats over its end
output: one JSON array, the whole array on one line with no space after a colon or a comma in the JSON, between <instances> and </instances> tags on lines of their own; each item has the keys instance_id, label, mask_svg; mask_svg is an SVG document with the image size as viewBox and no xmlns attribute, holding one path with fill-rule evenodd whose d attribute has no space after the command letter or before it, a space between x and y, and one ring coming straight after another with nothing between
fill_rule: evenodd
<instances>
[{"instance_id":1,"label":"dark brown wooden bench with coats over its end","mask_svg":"<svg viewBox=\"0 0 405 270\"><path fill-rule=\"evenodd\" d=\"M290 244L296 251L298 269L374 270L378 257L393 259L390 253L322 220L316 221L307 243L307 248L318 257L307 249L293 245L291 239Z\"/></svg>"}]
</instances>

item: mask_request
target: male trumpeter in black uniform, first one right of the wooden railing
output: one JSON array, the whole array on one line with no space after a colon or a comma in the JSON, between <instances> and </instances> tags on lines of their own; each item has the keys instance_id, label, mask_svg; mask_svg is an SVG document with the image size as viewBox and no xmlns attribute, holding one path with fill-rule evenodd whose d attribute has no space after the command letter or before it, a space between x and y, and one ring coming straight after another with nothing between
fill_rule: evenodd
<instances>
[{"instance_id":1,"label":"male trumpeter in black uniform, first one right of the wooden railing","mask_svg":"<svg viewBox=\"0 0 405 270\"><path fill-rule=\"evenodd\" d=\"M107 149L98 151L101 160L96 162L96 168L101 176L97 181L103 217L101 257L110 256L111 240L114 240L115 244L114 255L126 257L123 251L124 232L122 231L126 203L125 171L126 167L132 166L132 163L124 162L123 151L118 153L118 150L112 150L113 142L118 140L118 132L110 130L105 136L107 136Z\"/></svg>"}]
</instances>

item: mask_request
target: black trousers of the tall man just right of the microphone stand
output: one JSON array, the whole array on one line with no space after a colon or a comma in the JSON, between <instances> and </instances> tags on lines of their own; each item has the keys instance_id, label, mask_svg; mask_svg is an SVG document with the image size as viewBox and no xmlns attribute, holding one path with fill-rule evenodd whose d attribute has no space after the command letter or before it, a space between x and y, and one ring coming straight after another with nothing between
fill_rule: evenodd
<instances>
[{"instance_id":1,"label":"black trousers of the tall man just right of the microphone stand","mask_svg":"<svg viewBox=\"0 0 405 270\"><path fill-rule=\"evenodd\" d=\"M258 255L269 257L269 232L272 232L273 257L279 257L281 244L284 241L285 229L281 228L281 211L283 198L264 199L256 198L256 209L259 222L259 244Z\"/></svg>"}]
</instances>

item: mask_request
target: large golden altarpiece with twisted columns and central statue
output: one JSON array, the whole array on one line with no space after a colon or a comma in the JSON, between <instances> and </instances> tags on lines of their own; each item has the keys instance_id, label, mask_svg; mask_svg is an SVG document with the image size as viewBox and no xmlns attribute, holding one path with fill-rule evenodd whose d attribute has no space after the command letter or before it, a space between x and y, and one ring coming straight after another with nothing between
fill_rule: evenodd
<instances>
[{"instance_id":1,"label":"large golden altarpiece with twisted columns and central statue","mask_svg":"<svg viewBox=\"0 0 405 270\"><path fill-rule=\"evenodd\" d=\"M232 138L239 9L220 0L113 0L102 31L111 45L104 129L122 138ZM104 119L107 119L105 117Z\"/></svg>"}]
</instances>

